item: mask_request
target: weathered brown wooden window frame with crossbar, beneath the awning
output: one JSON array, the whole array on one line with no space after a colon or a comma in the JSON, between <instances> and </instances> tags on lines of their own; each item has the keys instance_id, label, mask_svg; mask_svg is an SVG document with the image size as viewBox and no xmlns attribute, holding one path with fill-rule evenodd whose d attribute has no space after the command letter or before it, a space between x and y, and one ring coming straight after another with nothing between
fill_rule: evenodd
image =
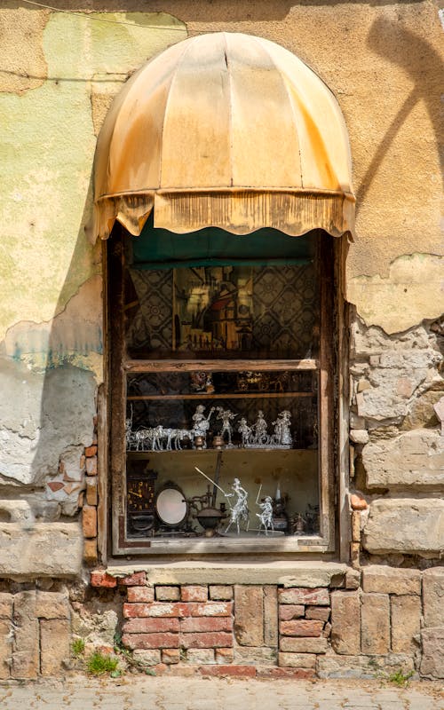
<instances>
[{"instance_id":1,"label":"weathered brown wooden window frame with crossbar, beneath the awning","mask_svg":"<svg viewBox=\"0 0 444 710\"><path fill-rule=\"evenodd\" d=\"M123 303L123 236L125 230L116 223L113 234L103 249L104 275L106 280L106 395L107 403L102 404L103 418L107 425L103 429L102 457L103 476L107 474L106 504L102 507L102 525L106 525L110 535L102 534L102 556L186 556L194 557L235 554L236 558L250 556L252 553L273 554L277 556L303 556L320 553L334 553L338 548L337 540L337 488L342 477L337 475L338 467L338 383L342 381L338 369L338 350L343 339L341 328L340 298L341 244L324 233L321 235L318 264L320 288L320 352L315 359L274 359L274 360L161 360L129 359L125 356L124 345L124 303ZM285 539L249 540L242 539L242 544L230 539L217 546L213 541L198 539L186 540L135 540L128 538L126 532L126 375L143 372L174 372L190 370L229 370L229 369L291 369L318 370L319 372L319 453L318 485L320 504L320 534L310 537L285 536ZM106 442L107 438L107 442ZM104 452L105 453L105 452ZM342 464L341 464L342 465ZM339 480L340 479L340 480ZM344 482L343 482L344 484ZM237 543L237 544L236 544ZM344 556L344 555L341 555Z\"/></svg>"}]
</instances>

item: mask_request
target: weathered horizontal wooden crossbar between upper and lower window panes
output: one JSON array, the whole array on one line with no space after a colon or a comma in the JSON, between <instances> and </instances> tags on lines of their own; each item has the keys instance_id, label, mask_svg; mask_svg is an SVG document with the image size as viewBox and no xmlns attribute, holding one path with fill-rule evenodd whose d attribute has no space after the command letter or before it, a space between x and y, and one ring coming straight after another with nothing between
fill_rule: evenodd
<instances>
[{"instance_id":1,"label":"weathered horizontal wooden crossbar between upper and lower window panes","mask_svg":"<svg viewBox=\"0 0 444 710\"><path fill-rule=\"evenodd\" d=\"M145 372L230 372L233 370L258 370L273 372L274 370L317 370L319 361L315 359L302 360L257 360L257 359L157 359L133 360L123 362L123 369L129 373Z\"/></svg>"}]
</instances>

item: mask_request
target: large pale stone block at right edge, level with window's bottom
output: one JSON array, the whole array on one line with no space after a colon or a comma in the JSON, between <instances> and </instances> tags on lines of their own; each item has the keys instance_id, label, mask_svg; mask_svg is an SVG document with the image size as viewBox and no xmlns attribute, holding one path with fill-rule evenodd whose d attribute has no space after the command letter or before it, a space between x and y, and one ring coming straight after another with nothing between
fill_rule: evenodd
<instances>
[{"instance_id":1,"label":"large pale stone block at right edge, level with window's bottom","mask_svg":"<svg viewBox=\"0 0 444 710\"><path fill-rule=\"evenodd\" d=\"M374 555L440 554L444 539L444 500L385 499L373 501L362 544Z\"/></svg>"}]
</instances>

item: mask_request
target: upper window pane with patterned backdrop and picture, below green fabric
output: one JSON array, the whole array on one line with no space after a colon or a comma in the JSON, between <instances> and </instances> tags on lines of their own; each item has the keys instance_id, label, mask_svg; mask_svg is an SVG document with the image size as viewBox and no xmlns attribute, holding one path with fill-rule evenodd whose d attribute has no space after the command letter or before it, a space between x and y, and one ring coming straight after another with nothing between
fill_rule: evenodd
<instances>
[{"instance_id":1,"label":"upper window pane with patterned backdrop and picture, below green fabric","mask_svg":"<svg viewBox=\"0 0 444 710\"><path fill-rule=\"evenodd\" d=\"M313 261L178 269L130 268L126 345L132 358L316 358Z\"/></svg>"}]
</instances>

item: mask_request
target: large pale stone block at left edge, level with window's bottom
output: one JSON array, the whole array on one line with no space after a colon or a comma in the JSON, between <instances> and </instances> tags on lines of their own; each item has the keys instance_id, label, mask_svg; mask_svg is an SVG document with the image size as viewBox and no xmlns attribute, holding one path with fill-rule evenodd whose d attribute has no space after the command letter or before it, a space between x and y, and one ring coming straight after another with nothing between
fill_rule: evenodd
<instances>
[{"instance_id":1,"label":"large pale stone block at left edge, level with window's bottom","mask_svg":"<svg viewBox=\"0 0 444 710\"><path fill-rule=\"evenodd\" d=\"M24 530L0 524L0 577L74 577L83 561L83 536L77 522L36 523Z\"/></svg>"}]
</instances>

